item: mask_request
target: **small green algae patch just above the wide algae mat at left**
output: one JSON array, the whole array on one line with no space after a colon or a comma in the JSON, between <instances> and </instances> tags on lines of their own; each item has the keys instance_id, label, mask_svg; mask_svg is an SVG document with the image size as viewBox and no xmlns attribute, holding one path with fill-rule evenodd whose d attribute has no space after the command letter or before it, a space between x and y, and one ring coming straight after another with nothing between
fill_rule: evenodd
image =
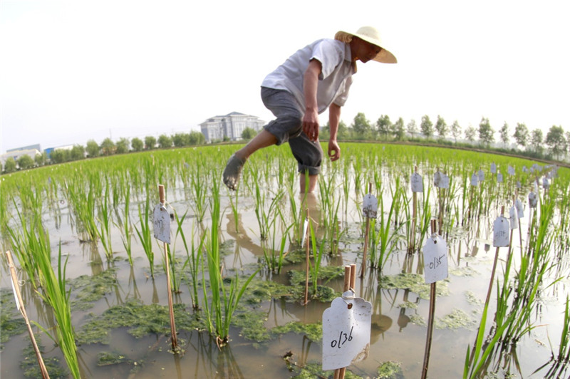
<instances>
[{"instance_id":1,"label":"small green algae patch just above the wide algae mat at left","mask_svg":"<svg viewBox=\"0 0 570 379\"><path fill-rule=\"evenodd\" d=\"M77 291L71 308L81 311L93 308L93 302L110 294L117 285L116 272L116 268L111 268L97 275L82 275L70 281L72 291Z\"/></svg>"}]
</instances>

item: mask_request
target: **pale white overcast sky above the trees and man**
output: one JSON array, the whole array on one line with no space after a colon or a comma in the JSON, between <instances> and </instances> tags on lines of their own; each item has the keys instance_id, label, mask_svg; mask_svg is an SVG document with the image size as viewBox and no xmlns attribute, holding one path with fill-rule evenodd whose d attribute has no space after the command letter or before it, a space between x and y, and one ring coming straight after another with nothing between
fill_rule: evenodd
<instances>
[{"instance_id":1,"label":"pale white overcast sky above the trees and man","mask_svg":"<svg viewBox=\"0 0 570 379\"><path fill-rule=\"evenodd\" d=\"M357 113L418 125L440 115L462 130L489 118L511 135L517 123L570 131L567 4L0 0L0 152L188 133L234 111L269 121L266 74L366 25L398 63L358 66L347 125Z\"/></svg>"}]
</instances>

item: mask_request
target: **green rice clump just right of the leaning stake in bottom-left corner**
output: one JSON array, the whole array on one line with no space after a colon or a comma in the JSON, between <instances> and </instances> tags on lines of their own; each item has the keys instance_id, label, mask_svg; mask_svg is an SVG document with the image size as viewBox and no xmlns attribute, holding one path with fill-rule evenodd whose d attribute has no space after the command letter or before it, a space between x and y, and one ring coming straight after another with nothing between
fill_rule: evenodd
<instances>
[{"instance_id":1,"label":"green rice clump just right of the leaning stake in bottom-left corner","mask_svg":"<svg viewBox=\"0 0 570 379\"><path fill-rule=\"evenodd\" d=\"M53 316L56 318L56 325L54 326L54 328L56 328L56 335L52 336L43 326L38 323L35 324L61 348L61 352L66 359L73 378L81 378L75 341L75 329L71 323L71 302L69 300L71 289L66 291L67 259L62 264L60 244L58 274L56 276L51 266L51 254L49 249L43 249L41 252L35 251L35 253L38 257L38 266L44 279L42 291L38 292L38 295L53 309Z\"/></svg>"}]
</instances>

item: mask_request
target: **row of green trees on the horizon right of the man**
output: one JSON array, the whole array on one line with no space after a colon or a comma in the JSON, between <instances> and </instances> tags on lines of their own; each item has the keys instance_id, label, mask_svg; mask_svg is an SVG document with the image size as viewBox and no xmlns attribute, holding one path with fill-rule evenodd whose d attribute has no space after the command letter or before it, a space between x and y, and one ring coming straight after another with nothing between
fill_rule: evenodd
<instances>
[{"instance_id":1,"label":"row of green trees on the horizon right of the man","mask_svg":"<svg viewBox=\"0 0 570 379\"><path fill-rule=\"evenodd\" d=\"M328 135L329 125L323 128L324 135ZM410 140L423 137L425 140L437 140L438 142L453 140L465 140L470 145L475 143L484 147L518 147L519 150L530 153L535 157L554 157L560 159L566 152L570 152L570 132L565 132L561 126L553 125L546 136L541 129L529 130L524 123L517 123L511 134L509 125L504 123L499 128L499 139L495 140L497 133L489 123L488 118L481 118L479 127L470 125L462 130L457 120L447 125L444 118L437 116L435 123L428 115L424 115L418 125L415 120L405 124L403 118L398 118L394 123L388 115L380 115L376 123L366 119L364 113L358 113L351 125L346 123L338 125L338 140ZM546 150L544 145L548 147ZM511 149L512 150L512 149Z\"/></svg>"}]
</instances>

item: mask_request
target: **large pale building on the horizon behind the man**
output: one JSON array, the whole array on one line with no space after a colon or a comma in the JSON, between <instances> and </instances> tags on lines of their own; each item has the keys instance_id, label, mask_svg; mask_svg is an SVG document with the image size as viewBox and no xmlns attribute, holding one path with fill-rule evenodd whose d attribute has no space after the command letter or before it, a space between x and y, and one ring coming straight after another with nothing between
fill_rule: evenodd
<instances>
[{"instance_id":1,"label":"large pale building on the horizon behind the man","mask_svg":"<svg viewBox=\"0 0 570 379\"><path fill-rule=\"evenodd\" d=\"M235 141L242 139L242 132L245 128L252 128L257 132L263 125L265 125L264 121L259 120L257 116L232 112L227 115L208 118L200 124L200 130L206 137L206 142L223 140L224 137Z\"/></svg>"}]
</instances>

